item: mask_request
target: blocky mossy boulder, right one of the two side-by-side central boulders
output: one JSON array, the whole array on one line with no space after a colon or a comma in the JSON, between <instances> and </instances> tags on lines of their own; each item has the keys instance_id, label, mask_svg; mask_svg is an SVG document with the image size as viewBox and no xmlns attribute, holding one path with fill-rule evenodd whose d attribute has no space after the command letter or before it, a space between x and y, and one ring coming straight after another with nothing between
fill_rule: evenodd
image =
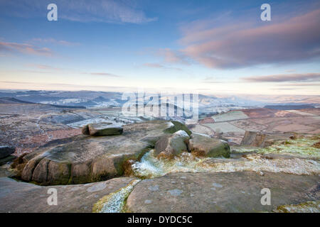
<instances>
[{"instance_id":1,"label":"blocky mossy boulder, right one of the two side-by-side central boulders","mask_svg":"<svg viewBox=\"0 0 320 227\"><path fill-rule=\"evenodd\" d=\"M192 135L188 149L195 155L205 157L230 157L230 147L227 142L198 134Z\"/></svg>"}]
</instances>

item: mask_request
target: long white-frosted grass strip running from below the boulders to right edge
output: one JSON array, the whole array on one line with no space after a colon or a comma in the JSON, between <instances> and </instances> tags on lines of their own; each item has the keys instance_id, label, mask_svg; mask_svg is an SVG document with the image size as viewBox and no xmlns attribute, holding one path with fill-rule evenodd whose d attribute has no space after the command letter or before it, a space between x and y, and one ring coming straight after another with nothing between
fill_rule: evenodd
<instances>
[{"instance_id":1,"label":"long white-frosted grass strip running from below the boulders to right edge","mask_svg":"<svg viewBox=\"0 0 320 227\"><path fill-rule=\"evenodd\" d=\"M191 153L182 153L171 160L154 157L153 150L146 153L140 162L132 165L136 177L153 178L171 172L285 172L296 175L314 175L320 173L320 163L315 160L299 158L270 159L261 154L248 154L240 159L195 157Z\"/></svg>"}]
</instances>

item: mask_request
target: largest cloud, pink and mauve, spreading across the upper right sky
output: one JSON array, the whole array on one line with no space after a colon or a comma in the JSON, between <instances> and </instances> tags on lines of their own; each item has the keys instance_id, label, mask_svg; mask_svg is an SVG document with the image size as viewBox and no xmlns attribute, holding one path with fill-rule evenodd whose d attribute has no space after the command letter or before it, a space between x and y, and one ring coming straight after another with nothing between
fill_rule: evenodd
<instances>
[{"instance_id":1,"label":"largest cloud, pink and mauve, spreading across the upper right sky","mask_svg":"<svg viewBox=\"0 0 320 227\"><path fill-rule=\"evenodd\" d=\"M320 57L320 9L267 23L238 21L213 28L208 21L198 21L182 31L179 42L184 47L168 57L171 62L189 57L206 67L228 69Z\"/></svg>"}]
</instances>

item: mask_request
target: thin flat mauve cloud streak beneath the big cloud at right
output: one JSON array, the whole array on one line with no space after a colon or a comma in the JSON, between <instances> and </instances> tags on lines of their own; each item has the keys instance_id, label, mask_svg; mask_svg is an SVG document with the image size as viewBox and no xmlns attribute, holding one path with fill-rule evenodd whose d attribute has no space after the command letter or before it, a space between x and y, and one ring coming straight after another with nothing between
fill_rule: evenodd
<instances>
[{"instance_id":1,"label":"thin flat mauve cloud streak beneath the big cloud at right","mask_svg":"<svg viewBox=\"0 0 320 227\"><path fill-rule=\"evenodd\" d=\"M268 76L242 77L247 82L302 82L320 79L320 73L274 74Z\"/></svg>"}]
</instances>

